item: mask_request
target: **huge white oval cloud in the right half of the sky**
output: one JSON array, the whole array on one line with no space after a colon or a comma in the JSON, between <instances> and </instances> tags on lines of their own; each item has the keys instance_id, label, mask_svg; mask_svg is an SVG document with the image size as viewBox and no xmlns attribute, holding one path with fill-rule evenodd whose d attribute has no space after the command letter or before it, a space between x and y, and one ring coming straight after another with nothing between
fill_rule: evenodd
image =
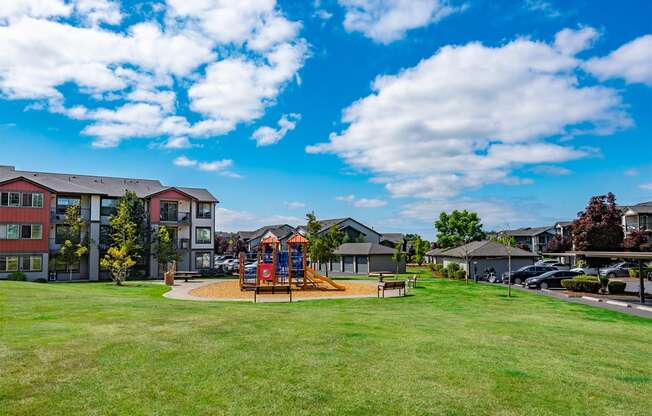
<instances>
[{"instance_id":1,"label":"huge white oval cloud in the right half of the sky","mask_svg":"<svg viewBox=\"0 0 652 416\"><path fill-rule=\"evenodd\" d=\"M632 125L618 91L580 84L580 64L529 39L446 46L377 77L373 93L344 111L344 130L306 150L340 156L395 196L453 198L492 183L528 184L512 171L591 156L569 140Z\"/></svg>"}]
</instances>

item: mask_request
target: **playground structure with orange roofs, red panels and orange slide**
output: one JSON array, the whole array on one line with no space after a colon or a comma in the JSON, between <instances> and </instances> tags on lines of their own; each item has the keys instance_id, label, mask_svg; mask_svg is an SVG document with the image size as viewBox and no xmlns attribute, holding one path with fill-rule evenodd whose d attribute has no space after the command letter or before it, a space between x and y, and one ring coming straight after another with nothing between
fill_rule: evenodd
<instances>
[{"instance_id":1,"label":"playground structure with orange roofs, red panels and orange slide","mask_svg":"<svg viewBox=\"0 0 652 416\"><path fill-rule=\"evenodd\" d=\"M308 239L294 234L287 241L287 251L281 251L280 241L274 236L265 237L258 246L256 267L245 267L245 254L239 255L240 290L255 290L260 286L295 287L306 290L322 288L334 290L345 286L321 275L308 265Z\"/></svg>"}]
</instances>

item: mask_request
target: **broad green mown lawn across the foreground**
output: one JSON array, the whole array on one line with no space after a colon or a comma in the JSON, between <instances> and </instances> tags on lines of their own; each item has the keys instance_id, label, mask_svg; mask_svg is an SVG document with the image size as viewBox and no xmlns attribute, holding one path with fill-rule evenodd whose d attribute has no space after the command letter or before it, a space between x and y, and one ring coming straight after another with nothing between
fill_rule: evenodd
<instances>
[{"instance_id":1,"label":"broad green mown lawn across the foreground","mask_svg":"<svg viewBox=\"0 0 652 416\"><path fill-rule=\"evenodd\" d=\"M0 282L0 414L650 414L651 321L423 286L254 305Z\"/></svg>"}]
</instances>

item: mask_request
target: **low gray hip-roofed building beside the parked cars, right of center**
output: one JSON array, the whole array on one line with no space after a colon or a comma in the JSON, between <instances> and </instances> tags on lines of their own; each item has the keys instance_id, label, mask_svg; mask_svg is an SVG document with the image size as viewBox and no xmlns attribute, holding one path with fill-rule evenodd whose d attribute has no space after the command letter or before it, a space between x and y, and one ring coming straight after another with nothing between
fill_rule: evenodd
<instances>
[{"instance_id":1,"label":"low gray hip-roofed building beside the parked cars, right of center","mask_svg":"<svg viewBox=\"0 0 652 416\"><path fill-rule=\"evenodd\" d=\"M534 264L537 254L518 247L507 247L495 241L472 241L459 247L435 249L428 252L428 257L436 264L447 266L457 263L466 271L469 277L481 276L485 270L493 268L496 276L502 276L509 271L509 256L512 258L512 270ZM466 261L468 260L468 264Z\"/></svg>"}]
</instances>

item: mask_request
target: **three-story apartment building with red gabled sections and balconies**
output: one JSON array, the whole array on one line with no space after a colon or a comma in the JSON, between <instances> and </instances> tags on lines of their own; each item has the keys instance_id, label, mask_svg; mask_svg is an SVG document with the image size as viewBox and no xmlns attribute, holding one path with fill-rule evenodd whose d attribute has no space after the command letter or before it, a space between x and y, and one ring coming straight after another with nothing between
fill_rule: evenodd
<instances>
[{"instance_id":1,"label":"three-story apartment building with red gabled sections and balconies","mask_svg":"<svg viewBox=\"0 0 652 416\"><path fill-rule=\"evenodd\" d=\"M142 199L152 235L158 227L168 228L179 254L178 270L212 267L218 200L206 189L0 166L0 279L14 271L30 280L110 279L100 270L100 258L108 248L109 218L126 191ZM79 205L91 241L88 255L72 271L54 256L63 242L65 211L71 205ZM134 273L158 277L161 271L150 253L139 259Z\"/></svg>"}]
</instances>

